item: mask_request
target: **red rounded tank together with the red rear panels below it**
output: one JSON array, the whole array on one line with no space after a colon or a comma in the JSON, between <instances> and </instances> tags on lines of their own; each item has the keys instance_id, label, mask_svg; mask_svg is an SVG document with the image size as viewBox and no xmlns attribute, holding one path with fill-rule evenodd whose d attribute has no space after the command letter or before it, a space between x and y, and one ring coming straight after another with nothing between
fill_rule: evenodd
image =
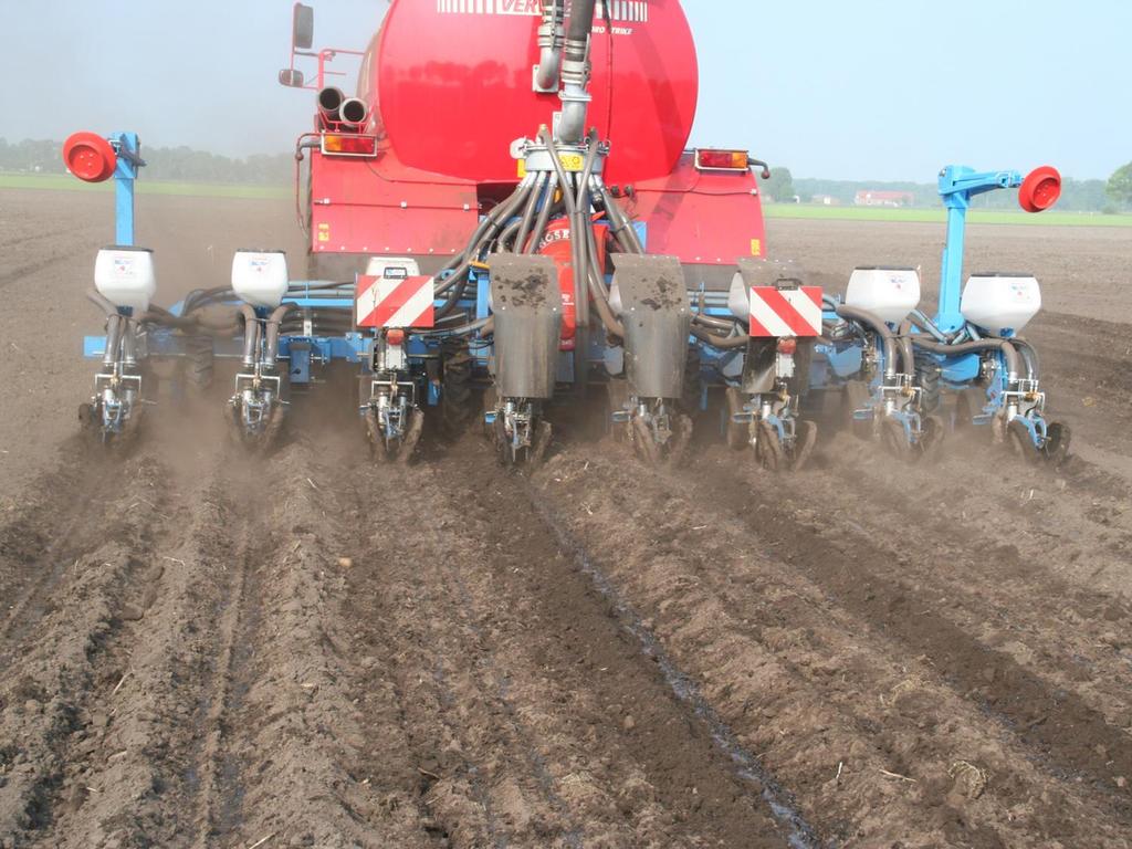
<instances>
[{"instance_id":1,"label":"red rounded tank together with the red rear panels below it","mask_svg":"<svg viewBox=\"0 0 1132 849\"><path fill-rule=\"evenodd\" d=\"M346 278L372 255L430 274L464 248L518 181L512 143L561 109L533 91L541 20L539 0L393 0L359 75L376 154L311 155L312 276ZM726 289L739 257L765 254L758 188L746 168L685 151L700 79L679 0L598 0L591 62L586 123L611 146L606 185L650 252Z\"/></svg>"}]
</instances>

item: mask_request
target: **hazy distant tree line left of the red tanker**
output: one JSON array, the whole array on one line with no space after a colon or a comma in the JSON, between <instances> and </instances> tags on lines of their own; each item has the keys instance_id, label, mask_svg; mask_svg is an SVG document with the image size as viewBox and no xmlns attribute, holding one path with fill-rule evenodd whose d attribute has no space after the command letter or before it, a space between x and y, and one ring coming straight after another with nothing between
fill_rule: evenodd
<instances>
[{"instance_id":1,"label":"hazy distant tree line left of the red tanker","mask_svg":"<svg viewBox=\"0 0 1132 849\"><path fill-rule=\"evenodd\" d=\"M62 174L62 143L24 139L10 143L0 138L0 171ZM294 172L291 154L255 154L243 158L221 156L191 147L149 147L144 142L142 157L145 175L171 182L286 185Z\"/></svg>"}]
</instances>

